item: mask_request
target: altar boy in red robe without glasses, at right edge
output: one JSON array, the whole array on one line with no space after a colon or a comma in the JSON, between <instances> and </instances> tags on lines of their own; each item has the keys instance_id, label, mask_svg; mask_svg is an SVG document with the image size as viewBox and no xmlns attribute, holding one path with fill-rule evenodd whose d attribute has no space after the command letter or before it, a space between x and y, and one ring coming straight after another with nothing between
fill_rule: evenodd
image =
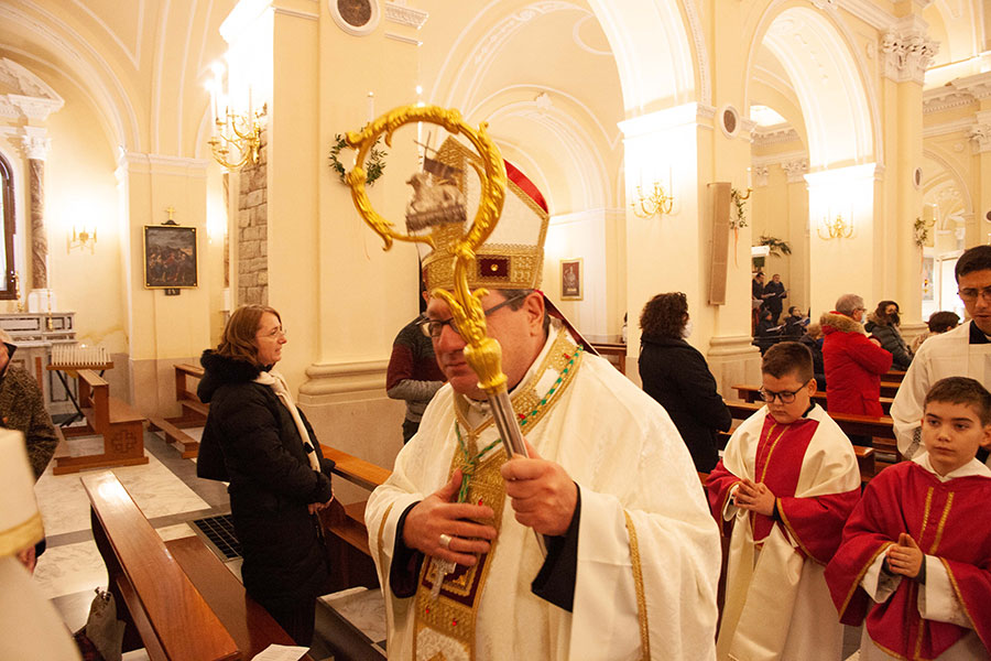
<instances>
[{"instance_id":1,"label":"altar boy in red robe without glasses, at right edge","mask_svg":"<svg viewBox=\"0 0 991 661\"><path fill-rule=\"evenodd\" d=\"M926 452L884 469L850 516L826 579L859 625L861 661L991 658L991 393L951 377L925 400Z\"/></svg>"}]
</instances>

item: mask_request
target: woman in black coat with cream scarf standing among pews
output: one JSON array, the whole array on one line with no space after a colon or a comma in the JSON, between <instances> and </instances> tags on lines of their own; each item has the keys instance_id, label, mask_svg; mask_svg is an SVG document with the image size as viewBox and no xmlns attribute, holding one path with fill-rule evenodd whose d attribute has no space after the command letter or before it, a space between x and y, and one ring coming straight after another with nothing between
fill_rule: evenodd
<instances>
[{"instance_id":1,"label":"woman in black coat with cream scarf standing among pews","mask_svg":"<svg viewBox=\"0 0 991 661\"><path fill-rule=\"evenodd\" d=\"M233 312L216 350L203 353L197 393L210 404L199 477L229 481L244 588L297 644L313 639L316 597L327 582L316 513L333 500L330 469L285 380L272 368L285 333L262 305Z\"/></svg>"}]
</instances>

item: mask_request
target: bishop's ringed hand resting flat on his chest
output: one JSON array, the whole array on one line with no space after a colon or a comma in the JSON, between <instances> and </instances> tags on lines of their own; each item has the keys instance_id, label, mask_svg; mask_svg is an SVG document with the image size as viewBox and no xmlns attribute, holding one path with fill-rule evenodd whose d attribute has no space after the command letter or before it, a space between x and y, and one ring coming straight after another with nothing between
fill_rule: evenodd
<instances>
[{"instance_id":1,"label":"bishop's ringed hand resting flat on his chest","mask_svg":"<svg viewBox=\"0 0 991 661\"><path fill-rule=\"evenodd\" d=\"M417 502L403 525L403 543L427 555L472 566L479 553L489 552L496 528L477 521L492 521L496 516L486 505L451 502L461 487L461 472Z\"/></svg>"}]
</instances>

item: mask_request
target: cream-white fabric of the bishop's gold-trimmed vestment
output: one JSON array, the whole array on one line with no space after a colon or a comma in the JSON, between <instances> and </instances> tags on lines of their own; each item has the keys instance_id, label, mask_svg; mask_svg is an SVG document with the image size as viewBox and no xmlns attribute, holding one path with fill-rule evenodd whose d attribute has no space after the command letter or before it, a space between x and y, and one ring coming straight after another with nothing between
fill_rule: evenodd
<instances>
[{"instance_id":1,"label":"cream-white fabric of the bishop's gold-trimmed vestment","mask_svg":"<svg viewBox=\"0 0 991 661\"><path fill-rule=\"evenodd\" d=\"M538 393L554 388L554 369L535 373L554 330L523 383ZM396 523L412 503L448 480L457 447L450 386L434 397L420 431L396 457L390 479L375 489L366 510L372 557L383 586L389 658L410 660L414 649L416 598L396 598L389 588ZM472 407L473 415L483 409ZM464 432L462 432L464 433ZM577 576L571 613L531 592L543 564L533 531L513 517L507 501L491 567L477 611L475 658L574 659L715 658L719 533L685 444L667 413L608 361L584 355L577 373L555 405L524 433L540 453L557 462L581 492ZM498 437L494 425L478 446ZM497 447L491 453L501 453ZM490 454L491 454L490 453ZM639 563L631 555L632 521ZM642 571L645 622L638 614ZM643 626L643 628L642 628ZM417 643L429 659L444 641Z\"/></svg>"}]
</instances>

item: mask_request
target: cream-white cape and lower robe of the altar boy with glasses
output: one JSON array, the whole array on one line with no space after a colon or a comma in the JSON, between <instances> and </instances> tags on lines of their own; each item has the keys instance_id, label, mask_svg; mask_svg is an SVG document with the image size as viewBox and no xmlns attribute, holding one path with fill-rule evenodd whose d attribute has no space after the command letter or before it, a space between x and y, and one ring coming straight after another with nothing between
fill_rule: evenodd
<instances>
[{"instance_id":1,"label":"cream-white cape and lower robe of the altar boy with glasses","mask_svg":"<svg viewBox=\"0 0 991 661\"><path fill-rule=\"evenodd\" d=\"M733 432L722 464L739 478L754 474L767 407ZM860 487L850 440L816 404L808 415L818 426L798 473L795 498L846 494ZM825 566L799 552L799 540L775 524L756 549L751 517L727 500L723 517L736 518L730 541L719 658L742 661L839 661L843 628L832 607Z\"/></svg>"}]
</instances>

